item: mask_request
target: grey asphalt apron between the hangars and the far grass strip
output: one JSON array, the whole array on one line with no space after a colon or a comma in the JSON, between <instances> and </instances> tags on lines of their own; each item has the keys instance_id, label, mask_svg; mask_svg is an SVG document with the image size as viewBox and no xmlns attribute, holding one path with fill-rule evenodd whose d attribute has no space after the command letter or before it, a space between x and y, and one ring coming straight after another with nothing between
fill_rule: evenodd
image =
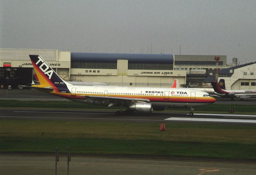
<instances>
[{"instance_id":1,"label":"grey asphalt apron between the hangars and the far grass strip","mask_svg":"<svg viewBox=\"0 0 256 175\"><path fill-rule=\"evenodd\" d=\"M0 89L0 100L22 100L22 101L69 101L65 98L54 96L45 92L34 89ZM230 98L216 97L215 104L248 104L256 105L256 98L248 98L244 100L235 99L231 101Z\"/></svg>"}]
</instances>

